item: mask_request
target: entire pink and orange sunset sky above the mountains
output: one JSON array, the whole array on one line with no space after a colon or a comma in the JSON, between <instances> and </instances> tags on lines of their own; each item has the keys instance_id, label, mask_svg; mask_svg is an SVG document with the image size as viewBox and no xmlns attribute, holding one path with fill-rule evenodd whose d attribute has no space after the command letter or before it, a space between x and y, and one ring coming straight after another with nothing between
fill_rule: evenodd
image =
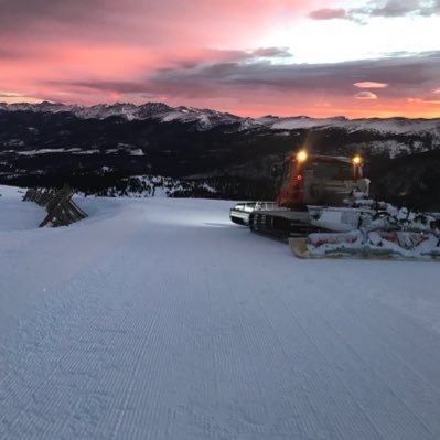
<instances>
[{"instance_id":1,"label":"entire pink and orange sunset sky above the mountains","mask_svg":"<svg viewBox=\"0 0 440 440\"><path fill-rule=\"evenodd\" d=\"M0 0L0 101L440 117L440 0Z\"/></svg>"}]
</instances>

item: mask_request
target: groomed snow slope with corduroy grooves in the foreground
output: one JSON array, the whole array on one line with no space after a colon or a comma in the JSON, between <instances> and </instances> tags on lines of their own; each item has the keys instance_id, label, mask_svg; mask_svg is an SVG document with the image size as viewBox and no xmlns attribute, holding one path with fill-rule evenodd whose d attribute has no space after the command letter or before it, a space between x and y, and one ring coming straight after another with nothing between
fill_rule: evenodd
<instances>
[{"instance_id":1,"label":"groomed snow slope with corduroy grooves in the foreground","mask_svg":"<svg viewBox=\"0 0 440 440\"><path fill-rule=\"evenodd\" d=\"M299 260L230 202L0 186L0 439L440 438L440 266Z\"/></svg>"}]
</instances>

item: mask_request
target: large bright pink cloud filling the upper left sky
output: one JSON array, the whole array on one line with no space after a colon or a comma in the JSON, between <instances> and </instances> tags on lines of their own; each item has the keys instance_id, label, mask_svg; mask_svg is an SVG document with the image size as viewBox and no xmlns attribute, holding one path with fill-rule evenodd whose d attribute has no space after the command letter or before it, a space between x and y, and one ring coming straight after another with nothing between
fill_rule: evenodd
<instances>
[{"instance_id":1,"label":"large bright pink cloud filling the upper left sky","mask_svg":"<svg viewBox=\"0 0 440 440\"><path fill-rule=\"evenodd\" d=\"M99 90L61 85L141 83L162 69L285 56L255 42L273 21L323 1L14 0L0 14L0 84L35 96L52 83L53 98L94 104Z\"/></svg>"}]
</instances>

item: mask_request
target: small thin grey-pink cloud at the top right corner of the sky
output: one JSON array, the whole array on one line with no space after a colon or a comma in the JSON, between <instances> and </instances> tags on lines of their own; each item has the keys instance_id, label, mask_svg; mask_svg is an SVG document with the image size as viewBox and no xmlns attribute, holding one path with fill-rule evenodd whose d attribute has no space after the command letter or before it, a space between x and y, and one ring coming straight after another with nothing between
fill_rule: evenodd
<instances>
[{"instance_id":1,"label":"small thin grey-pink cloud at the top right corner of the sky","mask_svg":"<svg viewBox=\"0 0 440 440\"><path fill-rule=\"evenodd\" d=\"M439 0L387 0L385 4L380 1L366 3L362 8L325 8L311 11L309 18L313 20L346 19L357 22L365 22L368 18L384 17L432 17L440 14Z\"/></svg>"}]
</instances>

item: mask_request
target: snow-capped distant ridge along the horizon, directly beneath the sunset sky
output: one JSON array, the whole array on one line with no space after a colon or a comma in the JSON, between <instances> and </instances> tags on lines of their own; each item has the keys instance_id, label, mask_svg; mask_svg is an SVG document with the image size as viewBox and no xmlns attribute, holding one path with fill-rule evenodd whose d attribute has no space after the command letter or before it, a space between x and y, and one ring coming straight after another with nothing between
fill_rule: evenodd
<instances>
[{"instance_id":1,"label":"snow-capped distant ridge along the horizon, directly beneath the sunset sky","mask_svg":"<svg viewBox=\"0 0 440 440\"><path fill-rule=\"evenodd\" d=\"M163 103L147 103L139 106L130 103L116 103L112 105L98 104L92 107L47 101L41 104L0 103L0 110L50 114L68 112L81 119L103 120L110 117L121 117L128 121L155 119L160 122L195 122L200 130L210 130L217 126L235 125L237 131L257 128L269 128L277 131L334 128L343 129L347 132L377 131L394 135L430 132L440 138L440 118L408 119L394 117L386 119L347 119L344 116L332 118L310 118L308 116L278 117L271 115L260 118L245 118L210 109L198 109L184 106L170 107Z\"/></svg>"}]
</instances>

